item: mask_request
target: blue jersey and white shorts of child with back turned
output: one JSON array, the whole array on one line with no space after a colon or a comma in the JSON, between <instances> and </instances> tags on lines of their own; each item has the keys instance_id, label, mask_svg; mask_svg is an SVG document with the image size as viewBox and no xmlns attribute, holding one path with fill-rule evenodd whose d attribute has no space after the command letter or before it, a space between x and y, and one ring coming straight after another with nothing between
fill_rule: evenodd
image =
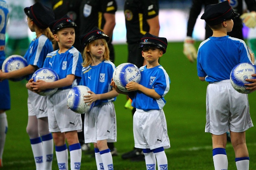
<instances>
[{"instance_id":1,"label":"blue jersey and white shorts of child with back turned","mask_svg":"<svg viewBox=\"0 0 256 170\"><path fill-rule=\"evenodd\" d=\"M251 63L243 40L229 36L209 37L200 44L197 72L209 82L205 132L221 135L227 130L243 132L253 126L247 94L234 90L229 80L233 67L243 62Z\"/></svg>"}]
</instances>

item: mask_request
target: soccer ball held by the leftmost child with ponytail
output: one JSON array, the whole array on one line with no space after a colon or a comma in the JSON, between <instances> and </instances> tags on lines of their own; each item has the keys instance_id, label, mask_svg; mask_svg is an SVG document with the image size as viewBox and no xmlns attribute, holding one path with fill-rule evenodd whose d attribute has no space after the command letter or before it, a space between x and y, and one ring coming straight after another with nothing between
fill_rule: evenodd
<instances>
[{"instance_id":1,"label":"soccer ball held by the leftmost child with ponytail","mask_svg":"<svg viewBox=\"0 0 256 170\"><path fill-rule=\"evenodd\" d=\"M28 66L27 60L20 55L11 55L4 60L2 65L3 72L12 72L14 70L21 69L23 67ZM11 81L21 81L26 76L20 78L10 78Z\"/></svg>"}]
</instances>

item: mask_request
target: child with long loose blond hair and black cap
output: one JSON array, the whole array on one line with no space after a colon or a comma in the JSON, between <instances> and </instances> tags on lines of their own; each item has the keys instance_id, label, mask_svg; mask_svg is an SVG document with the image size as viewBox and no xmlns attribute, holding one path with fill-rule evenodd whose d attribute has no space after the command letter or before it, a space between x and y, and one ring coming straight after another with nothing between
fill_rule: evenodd
<instances>
[{"instance_id":1,"label":"child with long loose blond hair and black cap","mask_svg":"<svg viewBox=\"0 0 256 170\"><path fill-rule=\"evenodd\" d=\"M94 103L90 113L84 116L84 141L94 143L97 169L112 170L113 160L107 142L117 141L116 115L113 101L118 93L110 85L114 63L109 60L109 37L94 27L80 36L84 48L82 85L91 89L85 102Z\"/></svg>"}]
</instances>

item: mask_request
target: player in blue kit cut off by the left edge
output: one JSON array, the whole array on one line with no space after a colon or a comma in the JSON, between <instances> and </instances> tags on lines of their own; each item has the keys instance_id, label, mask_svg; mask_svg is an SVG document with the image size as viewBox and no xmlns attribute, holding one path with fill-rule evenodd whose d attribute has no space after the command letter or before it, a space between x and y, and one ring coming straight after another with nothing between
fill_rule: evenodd
<instances>
[{"instance_id":1,"label":"player in blue kit cut off by the left edge","mask_svg":"<svg viewBox=\"0 0 256 170\"><path fill-rule=\"evenodd\" d=\"M8 5L5 1L0 0L0 10L3 12L0 17L0 22L2 23L2 30L0 31L0 66L2 69L2 64L5 60L5 31L8 22ZM0 168L3 166L2 156L4 152L6 133L8 129L7 116L5 111L10 110L11 100L10 100L10 89L8 80L0 81Z\"/></svg>"}]
</instances>

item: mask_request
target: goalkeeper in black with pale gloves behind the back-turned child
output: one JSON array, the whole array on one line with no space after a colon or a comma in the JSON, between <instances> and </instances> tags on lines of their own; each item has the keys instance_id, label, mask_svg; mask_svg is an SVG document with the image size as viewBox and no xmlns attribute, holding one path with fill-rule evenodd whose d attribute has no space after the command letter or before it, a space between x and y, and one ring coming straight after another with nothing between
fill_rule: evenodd
<instances>
[{"instance_id":1,"label":"goalkeeper in black with pale gloves behind the back-turned child","mask_svg":"<svg viewBox=\"0 0 256 170\"><path fill-rule=\"evenodd\" d=\"M225 0L193 0L192 1L192 6L190 8L189 18L187 22L187 37L184 40L184 48L183 48L183 53L186 55L187 59L191 63L193 63L197 59L197 49L194 46L195 40L192 37L192 33L194 30L197 17L202 10L202 6L204 5L206 7L209 4L217 4L223 1ZM254 22L252 18L255 18L256 16L255 0L244 0L244 1L247 6L247 9L250 11L249 13L247 13L247 15L242 15L243 9L244 9L243 0L229 1L230 6L234 10L234 12L239 13L240 17L237 17L233 20L234 21L233 29L231 32L227 33L227 35L229 35L230 37L239 38L241 40L244 39L242 34L242 28L243 28L242 19L243 19L243 22L245 23L248 22L248 25L249 25L249 23ZM256 24L256 21L255 21L255 24ZM205 39L207 39L210 36L212 36L212 31L208 25L206 25L205 29L206 29Z\"/></svg>"}]
</instances>

